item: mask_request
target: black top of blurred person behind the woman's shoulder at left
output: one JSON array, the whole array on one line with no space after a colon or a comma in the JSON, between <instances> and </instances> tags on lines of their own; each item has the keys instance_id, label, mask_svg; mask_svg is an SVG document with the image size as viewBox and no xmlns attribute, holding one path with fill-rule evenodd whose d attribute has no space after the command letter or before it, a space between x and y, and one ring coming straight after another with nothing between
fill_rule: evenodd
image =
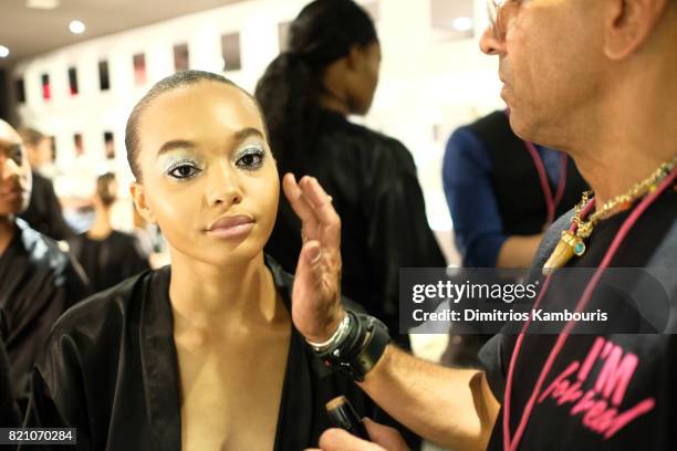
<instances>
[{"instance_id":1,"label":"black top of blurred person behind the woman's shoulder at left","mask_svg":"<svg viewBox=\"0 0 677 451\"><path fill-rule=\"evenodd\" d=\"M87 274L94 293L150 269L138 239L128 233L114 230L104 240L82 233L70 239L69 245Z\"/></svg>"}]
</instances>

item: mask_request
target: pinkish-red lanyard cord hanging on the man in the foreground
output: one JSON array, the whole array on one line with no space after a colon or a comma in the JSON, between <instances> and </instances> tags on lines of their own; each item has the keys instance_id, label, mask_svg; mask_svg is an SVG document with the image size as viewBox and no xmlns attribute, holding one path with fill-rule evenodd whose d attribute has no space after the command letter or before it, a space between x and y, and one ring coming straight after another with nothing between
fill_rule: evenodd
<instances>
[{"instance_id":1,"label":"pinkish-red lanyard cord hanging on the man in the foreground","mask_svg":"<svg viewBox=\"0 0 677 451\"><path fill-rule=\"evenodd\" d=\"M635 207L635 209L633 209L631 214L623 222L623 224L621 226L621 229L618 230L618 232L616 233L616 237L614 238L614 241L612 242L611 247L606 251L606 254L604 255L604 259L602 260L602 263L600 264L600 266L595 271L595 273L592 276L591 281L585 286L583 295L581 296L581 298L576 303L576 310L575 310L576 313L582 312L586 307L586 305L587 305L590 298L592 297L592 294L593 294L597 283L600 282L600 279L602 277L602 274L604 273L606 268L608 268L612 259L614 258L614 255L618 251L618 248L621 247L621 244L623 243L623 241L627 237L627 233L631 231L633 226L635 226L635 223L637 222L639 217L646 211L646 209L670 185L673 185L675 182L676 177L677 177L677 169L673 170L670 172L670 175L668 177L666 177L665 180L663 180L663 182L652 193L649 193L646 198L644 198L642 200L642 202L639 202L639 204L637 204L637 207ZM586 207L586 210L587 209L589 208ZM534 304L534 308L538 307L538 305L542 301L542 298L544 296L544 293L548 290L548 286L550 285L550 279L551 279L550 275L545 279L545 282L543 283L543 289L541 290L541 293L539 294L539 297L537 298L537 302ZM514 350L512 353L512 357L510 358L510 367L509 367L509 370L508 370L508 379L507 379L507 382L506 382L506 395L504 395L504 403L503 403L503 449L504 449L504 451L517 450L517 448L518 448L518 445L520 443L520 439L522 438L522 434L524 433L524 429L527 428L527 423L529 422L529 417L531 416L533 407L535 406L535 400L538 398L538 395L541 391L541 388L542 388L542 386L543 386L543 384L545 381L545 378L548 377L548 374L552 369L554 360L556 359L558 355L560 354L560 350L564 347L564 344L565 344L566 339L569 338L569 335L570 335L571 331L573 329L573 327L575 326L576 322L575 321L570 321L566 324L566 326L564 327L564 331L558 336L558 340L555 342L555 345L551 349L550 355L548 356L548 359L546 359L545 364L543 365L543 368L541 369L541 374L539 375L537 384L535 384L535 386L534 386L534 388L533 388L533 390L531 392L529 401L527 402L527 406L524 407L524 411L522 412L522 418L520 420L520 423L518 424L517 431L514 432L514 439L511 441L510 440L510 403L511 403L512 379L513 379L513 376L514 376L514 368L517 366L518 354L519 354L520 348L522 346L522 342L524 339L524 335L525 335L527 328L529 327L529 324L530 324L530 322L528 321L522 326L522 331L520 332L520 334L518 336L518 339L515 342L515 345L514 345Z\"/></svg>"}]
</instances>

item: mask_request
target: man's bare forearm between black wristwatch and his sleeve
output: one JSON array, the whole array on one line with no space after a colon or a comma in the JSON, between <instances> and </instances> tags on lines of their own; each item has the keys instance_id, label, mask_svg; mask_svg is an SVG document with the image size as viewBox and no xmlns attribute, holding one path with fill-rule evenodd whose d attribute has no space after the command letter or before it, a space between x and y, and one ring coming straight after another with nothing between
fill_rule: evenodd
<instances>
[{"instance_id":1,"label":"man's bare forearm between black wristwatch and his sleeve","mask_svg":"<svg viewBox=\"0 0 677 451\"><path fill-rule=\"evenodd\" d=\"M483 371L445 368L393 345L361 386L397 421L454 450L486 449L500 407Z\"/></svg>"}]
</instances>

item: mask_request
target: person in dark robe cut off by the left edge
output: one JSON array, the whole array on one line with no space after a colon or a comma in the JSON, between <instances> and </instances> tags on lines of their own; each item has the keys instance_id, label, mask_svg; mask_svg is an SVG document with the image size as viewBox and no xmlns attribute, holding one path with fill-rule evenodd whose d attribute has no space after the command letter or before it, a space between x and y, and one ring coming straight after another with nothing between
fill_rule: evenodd
<instances>
[{"instance_id":1,"label":"person in dark robe cut off by the left edge","mask_svg":"<svg viewBox=\"0 0 677 451\"><path fill-rule=\"evenodd\" d=\"M17 218L31 196L31 167L19 134L0 120L1 333L15 398L24 409L33 363L52 324L88 294L86 276L56 242Z\"/></svg>"}]
</instances>

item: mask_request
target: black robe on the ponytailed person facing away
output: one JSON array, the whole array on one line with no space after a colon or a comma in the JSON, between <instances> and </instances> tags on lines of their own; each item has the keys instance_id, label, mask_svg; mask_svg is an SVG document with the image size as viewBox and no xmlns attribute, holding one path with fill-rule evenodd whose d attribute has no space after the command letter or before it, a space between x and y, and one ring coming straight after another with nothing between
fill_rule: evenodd
<instances>
[{"instance_id":1,"label":"black robe on the ponytailed person facing away","mask_svg":"<svg viewBox=\"0 0 677 451\"><path fill-rule=\"evenodd\" d=\"M342 293L399 333L399 269L444 268L427 220L414 159L397 140L324 111L308 175L332 196L341 217ZM296 174L296 177L304 174ZM284 197L265 248L293 272L301 222ZM399 335L400 344L408 337Z\"/></svg>"}]
</instances>

